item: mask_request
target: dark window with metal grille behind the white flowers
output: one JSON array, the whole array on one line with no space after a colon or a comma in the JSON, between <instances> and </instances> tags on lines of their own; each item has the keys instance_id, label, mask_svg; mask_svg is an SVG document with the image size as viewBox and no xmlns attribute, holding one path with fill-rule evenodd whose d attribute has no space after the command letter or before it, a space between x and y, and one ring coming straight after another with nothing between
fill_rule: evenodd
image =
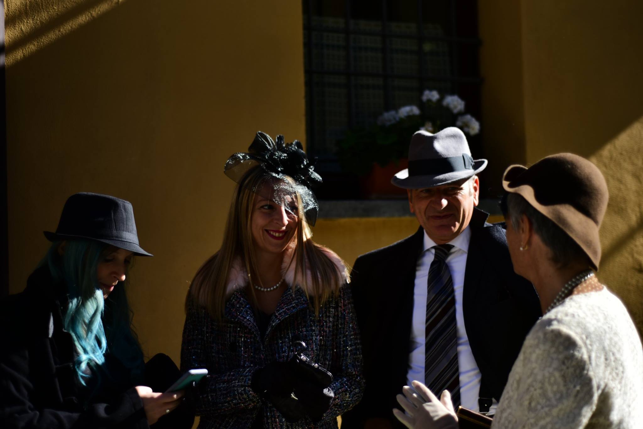
<instances>
[{"instance_id":1,"label":"dark window with metal grille behind the white flowers","mask_svg":"<svg viewBox=\"0 0 643 429\"><path fill-rule=\"evenodd\" d=\"M307 151L321 199L359 198L338 140L385 111L421 105L424 89L480 113L476 0L303 0ZM410 136L409 136L410 138ZM478 136L475 139L479 139Z\"/></svg>"}]
</instances>

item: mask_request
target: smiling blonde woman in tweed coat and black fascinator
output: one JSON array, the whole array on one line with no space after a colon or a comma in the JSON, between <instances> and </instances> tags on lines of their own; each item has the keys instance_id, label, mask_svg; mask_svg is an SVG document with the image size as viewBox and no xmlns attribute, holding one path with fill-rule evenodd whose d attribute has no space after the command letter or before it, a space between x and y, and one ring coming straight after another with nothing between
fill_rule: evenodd
<instances>
[{"instance_id":1,"label":"smiling blonde woman in tweed coat and black fascinator","mask_svg":"<svg viewBox=\"0 0 643 429\"><path fill-rule=\"evenodd\" d=\"M362 358L345 264L311 239L321 178L298 141L263 132L224 172L237 187L221 249L186 298L181 366L210 374L199 428L337 427Z\"/></svg>"}]
</instances>

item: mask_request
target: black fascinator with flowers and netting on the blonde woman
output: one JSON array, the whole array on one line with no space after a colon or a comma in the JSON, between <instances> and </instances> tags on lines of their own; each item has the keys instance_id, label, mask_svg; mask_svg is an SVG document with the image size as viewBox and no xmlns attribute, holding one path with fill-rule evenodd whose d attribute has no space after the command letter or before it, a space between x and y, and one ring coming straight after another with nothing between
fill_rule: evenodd
<instances>
[{"instance_id":1,"label":"black fascinator with flowers and netting on the blonde woman","mask_svg":"<svg viewBox=\"0 0 643 429\"><path fill-rule=\"evenodd\" d=\"M241 183L249 170L260 167L267 176L255 186L252 192L284 207L298 215L293 196L298 194L308 224L314 226L319 212L317 198L312 188L321 183L321 177L314 171L314 165L303 151L302 143L294 140L284 143L284 136L278 135L276 142L265 132L258 131L248 152L237 152L228 158L223 171L230 179ZM266 186L266 185L270 186Z\"/></svg>"}]
</instances>

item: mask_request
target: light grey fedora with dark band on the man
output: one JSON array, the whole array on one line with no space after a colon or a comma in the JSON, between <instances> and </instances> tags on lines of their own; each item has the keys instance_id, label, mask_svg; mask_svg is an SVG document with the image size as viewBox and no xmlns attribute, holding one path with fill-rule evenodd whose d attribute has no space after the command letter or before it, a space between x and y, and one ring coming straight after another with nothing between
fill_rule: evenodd
<instances>
[{"instance_id":1,"label":"light grey fedora with dark band on the man","mask_svg":"<svg viewBox=\"0 0 643 429\"><path fill-rule=\"evenodd\" d=\"M459 128L448 127L436 134L417 131L408 148L408 169L393 176L391 183L405 189L444 185L478 174L487 160L473 160L467 138Z\"/></svg>"}]
</instances>

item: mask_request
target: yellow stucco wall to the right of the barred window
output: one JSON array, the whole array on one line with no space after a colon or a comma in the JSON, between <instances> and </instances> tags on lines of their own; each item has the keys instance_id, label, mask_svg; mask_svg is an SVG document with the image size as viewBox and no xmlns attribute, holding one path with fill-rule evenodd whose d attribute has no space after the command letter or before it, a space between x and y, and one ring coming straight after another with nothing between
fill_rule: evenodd
<instances>
[{"instance_id":1,"label":"yellow stucco wall to the right of the barred window","mask_svg":"<svg viewBox=\"0 0 643 429\"><path fill-rule=\"evenodd\" d=\"M517 91L511 102L523 105L500 110L502 120L524 123L518 141L513 125L507 132L487 128L485 141L498 141L507 150L515 141L514 155L524 153L529 163L574 152L601 169L610 204L601 228L599 278L624 300L643 332L643 58L638 55L643 3L485 0L479 5L483 95L489 106L484 119L495 121L489 117L496 112L489 109L494 105L489 89L509 90L502 73L506 62L512 73L521 70L520 85L518 77L508 82ZM500 46L511 49L501 55Z\"/></svg>"}]
</instances>

